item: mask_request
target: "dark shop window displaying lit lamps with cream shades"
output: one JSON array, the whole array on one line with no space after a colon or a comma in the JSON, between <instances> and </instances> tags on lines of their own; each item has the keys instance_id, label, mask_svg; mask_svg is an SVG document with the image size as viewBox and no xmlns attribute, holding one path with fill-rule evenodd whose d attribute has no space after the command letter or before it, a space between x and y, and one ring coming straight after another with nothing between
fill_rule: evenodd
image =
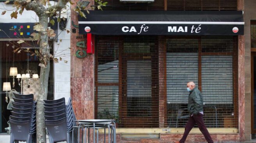
<instances>
[{"instance_id":1,"label":"dark shop window displaying lit lamps with cream shades","mask_svg":"<svg viewBox=\"0 0 256 143\"><path fill-rule=\"evenodd\" d=\"M22 43L21 45L17 44L17 41L0 41L0 91L1 91L1 117L0 120L2 120L0 124L0 132L6 133L5 128L8 127L8 119L10 115L11 110L7 110L8 103L5 102L5 92L2 91L3 82L11 82L11 89L15 89L17 92L21 93L21 87L18 84L18 79L14 77L15 86L12 87L12 76L9 76L10 67L17 67L18 73L27 73L27 69L34 71L40 76L40 66L39 61L37 59L37 56L30 56L28 52L20 51L20 53L14 53L13 50L16 49L13 46L20 46L26 49L29 49L31 51L34 51L34 48L32 47L39 47L37 45L37 42L32 41L25 41L25 43ZM53 49L51 47L50 52L52 52ZM48 97L47 99L53 99L53 62L50 62L50 74L49 74L49 82L48 82ZM28 87L24 87L28 88ZM30 89L34 88L33 85L31 85ZM23 90L24 91L24 90ZM9 99L8 99L9 100Z\"/></svg>"}]
</instances>

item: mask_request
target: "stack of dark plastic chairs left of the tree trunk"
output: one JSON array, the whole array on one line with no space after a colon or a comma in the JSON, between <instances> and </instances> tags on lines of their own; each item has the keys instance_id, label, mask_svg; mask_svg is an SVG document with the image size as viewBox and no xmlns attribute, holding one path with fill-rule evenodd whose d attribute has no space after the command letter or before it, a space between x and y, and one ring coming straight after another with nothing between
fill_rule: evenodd
<instances>
[{"instance_id":1,"label":"stack of dark plastic chairs left of the tree trunk","mask_svg":"<svg viewBox=\"0 0 256 143\"><path fill-rule=\"evenodd\" d=\"M34 95L14 93L12 111L9 117L11 125L11 143L15 141L36 141L36 101Z\"/></svg>"}]
</instances>

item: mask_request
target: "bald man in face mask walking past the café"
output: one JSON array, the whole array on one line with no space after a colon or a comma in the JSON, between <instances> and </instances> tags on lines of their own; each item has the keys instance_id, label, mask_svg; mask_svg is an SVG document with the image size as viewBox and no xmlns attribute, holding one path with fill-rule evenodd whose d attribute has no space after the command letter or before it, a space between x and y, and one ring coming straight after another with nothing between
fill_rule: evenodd
<instances>
[{"instance_id":1,"label":"bald man in face mask walking past the caf\u00e9","mask_svg":"<svg viewBox=\"0 0 256 143\"><path fill-rule=\"evenodd\" d=\"M188 133L194 127L195 124L199 127L200 131L203 133L204 138L208 143L213 143L213 140L204 125L203 120L203 97L199 89L197 89L194 82L187 83L188 95L188 112L190 114L188 122L185 126L185 132L180 141L173 141L174 143L185 143Z\"/></svg>"}]
</instances>

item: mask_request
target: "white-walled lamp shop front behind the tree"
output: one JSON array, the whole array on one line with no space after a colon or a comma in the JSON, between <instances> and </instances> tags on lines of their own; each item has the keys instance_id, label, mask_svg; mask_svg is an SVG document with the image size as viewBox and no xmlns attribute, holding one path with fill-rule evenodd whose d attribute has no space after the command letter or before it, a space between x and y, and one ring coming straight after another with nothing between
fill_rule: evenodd
<instances>
[{"instance_id":1,"label":"white-walled lamp shop front behind the tree","mask_svg":"<svg viewBox=\"0 0 256 143\"><path fill-rule=\"evenodd\" d=\"M21 78L20 81L18 81L17 76L13 77L10 75L11 67L16 67L19 74L25 74L27 73L27 70L30 70L32 74L40 75L40 67L38 66L39 61L36 56L31 56L31 54L24 51L21 51L20 53L13 52L17 47L23 47L30 50L35 50L34 47L39 47L37 41L32 41L31 38L29 38L34 32L33 26L38 22L38 17L35 12L24 10L23 14L19 14L17 19L11 19L11 9L13 9L12 3L5 4L4 1L1 1L0 3L0 9L7 10L4 15L0 16L0 103L2 111L0 115L0 133L6 134L7 131L5 128L8 127L7 122L11 110L7 109L10 100L8 98L8 101L6 102L6 94L2 89L3 83L11 82L11 89L20 93L33 93L35 97L38 94L36 91L38 90L39 83L38 80L32 78L32 75L30 79L30 87L26 84L27 81L23 81L21 87L19 85L19 83L21 83ZM53 2L51 3L54 4ZM66 14L66 29L70 29L71 20L69 16L69 13ZM70 97L70 33L60 30L57 21L54 28L58 37L49 40L49 45L51 46L50 52L55 54L57 58L62 57L63 60L59 61L59 63L50 61L48 99L65 97L66 101L68 101ZM19 45L17 43L19 40L24 40L25 42ZM60 42L60 40L62 42ZM68 61L68 63L64 63L64 60ZM14 86L12 85L13 78L15 82ZM4 141L6 141L6 139L4 139ZM0 140L0 142L2 142L2 140Z\"/></svg>"}]
</instances>

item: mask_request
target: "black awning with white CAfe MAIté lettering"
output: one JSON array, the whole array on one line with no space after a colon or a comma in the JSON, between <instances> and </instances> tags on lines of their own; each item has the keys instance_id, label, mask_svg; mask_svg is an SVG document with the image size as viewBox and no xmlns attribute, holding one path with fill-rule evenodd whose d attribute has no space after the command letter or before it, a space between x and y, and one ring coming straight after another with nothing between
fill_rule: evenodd
<instances>
[{"instance_id":1,"label":"black awning with white CAfe MAIt\u00e9 lettering","mask_svg":"<svg viewBox=\"0 0 256 143\"><path fill-rule=\"evenodd\" d=\"M244 35L242 11L92 10L79 33L98 35Z\"/></svg>"}]
</instances>

